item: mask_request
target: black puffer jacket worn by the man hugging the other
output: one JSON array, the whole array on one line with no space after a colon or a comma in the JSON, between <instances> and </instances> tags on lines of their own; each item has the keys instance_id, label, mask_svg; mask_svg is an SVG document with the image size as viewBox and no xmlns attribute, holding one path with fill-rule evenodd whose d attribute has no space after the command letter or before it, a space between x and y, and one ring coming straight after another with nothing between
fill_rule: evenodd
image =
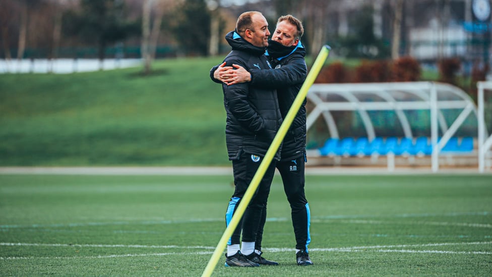
<instances>
[{"instance_id":1,"label":"black puffer jacket worn by the man hugging the other","mask_svg":"<svg viewBox=\"0 0 492 277\"><path fill-rule=\"evenodd\" d=\"M275 70L248 70L251 73L251 86L276 88L282 118L287 116L289 109L299 92L307 75L304 61L306 51L299 43L286 47L276 41L269 41L267 57ZM290 160L302 156L306 148L306 99L304 99L289 130L285 134L282 145L282 160Z\"/></svg>"}]
</instances>

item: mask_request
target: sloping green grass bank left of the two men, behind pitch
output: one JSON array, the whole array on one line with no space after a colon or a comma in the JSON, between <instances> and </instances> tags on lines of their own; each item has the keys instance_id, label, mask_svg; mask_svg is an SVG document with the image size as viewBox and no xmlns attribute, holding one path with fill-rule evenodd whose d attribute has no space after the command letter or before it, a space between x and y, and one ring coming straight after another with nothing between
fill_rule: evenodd
<instances>
[{"instance_id":1,"label":"sloping green grass bank left of the two men, behind pitch","mask_svg":"<svg viewBox=\"0 0 492 277\"><path fill-rule=\"evenodd\" d=\"M228 165L221 57L0 75L0 165Z\"/></svg>"}]
</instances>

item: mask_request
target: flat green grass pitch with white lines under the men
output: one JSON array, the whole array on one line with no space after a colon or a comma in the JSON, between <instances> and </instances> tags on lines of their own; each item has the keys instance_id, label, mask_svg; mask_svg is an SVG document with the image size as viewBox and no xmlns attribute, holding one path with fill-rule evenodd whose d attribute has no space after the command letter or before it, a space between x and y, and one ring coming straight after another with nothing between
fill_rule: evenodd
<instances>
[{"instance_id":1,"label":"flat green grass pitch with white lines under the men","mask_svg":"<svg viewBox=\"0 0 492 277\"><path fill-rule=\"evenodd\" d=\"M231 176L0 175L0 275L200 276ZM307 176L310 255L295 264L275 177L264 256L213 276L490 276L490 175Z\"/></svg>"}]
</instances>

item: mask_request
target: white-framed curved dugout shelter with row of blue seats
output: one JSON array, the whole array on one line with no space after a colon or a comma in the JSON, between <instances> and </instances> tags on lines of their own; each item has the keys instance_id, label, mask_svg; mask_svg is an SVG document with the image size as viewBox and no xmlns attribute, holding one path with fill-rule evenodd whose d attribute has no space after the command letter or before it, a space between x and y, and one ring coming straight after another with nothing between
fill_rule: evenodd
<instances>
[{"instance_id":1,"label":"white-framed curved dugout shelter with row of blue seats","mask_svg":"<svg viewBox=\"0 0 492 277\"><path fill-rule=\"evenodd\" d=\"M374 160L386 156L389 169L394 169L395 157L427 157L432 171L437 172L444 156L472 156L476 160L478 131L483 133L482 138L488 137L483 118L478 128L479 114L473 100L449 84L314 84L307 100L310 157ZM326 138L318 132L318 142L312 147L310 134L320 129L320 124L326 126ZM341 131L347 125L351 125L353 134ZM492 139L487 142L491 144Z\"/></svg>"}]
</instances>

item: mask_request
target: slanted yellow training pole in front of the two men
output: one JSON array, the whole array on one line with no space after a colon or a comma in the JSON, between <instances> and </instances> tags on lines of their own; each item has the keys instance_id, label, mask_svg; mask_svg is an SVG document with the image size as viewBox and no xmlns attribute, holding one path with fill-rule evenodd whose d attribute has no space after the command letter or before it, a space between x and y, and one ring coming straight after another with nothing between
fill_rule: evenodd
<instances>
[{"instance_id":1,"label":"slanted yellow training pole in front of the two men","mask_svg":"<svg viewBox=\"0 0 492 277\"><path fill-rule=\"evenodd\" d=\"M311 69L309 74L307 74L306 80L302 84L299 93L297 93L297 96L295 97L294 102L292 103L292 106L290 107L289 112L287 113L287 116L283 120L282 125L280 126L280 129L277 132L277 135L275 135L275 138L273 139L272 144L268 148L268 151L265 154L265 157L263 158L260 167L255 173L253 180L251 180L250 186L244 193L244 196L241 199L241 203L239 203L239 206L237 206L237 209L234 212L234 215L232 216L229 226L227 226L224 234L222 235L222 238L220 238L220 241L217 244L217 247L215 248L212 257L210 258L207 267L202 273L202 277L210 276L214 271L214 268L217 265L217 262L219 261L222 252L224 251L227 241L232 236L234 229L236 229L237 225L239 224L239 219L242 217L244 211L248 207L248 204L250 203L251 198L255 194L255 191L258 188L261 179L263 178L265 172L267 171L268 165L270 165L270 162L272 161L273 157L275 156L275 153L280 147L280 144L282 143L282 140L284 139L287 130L289 130L290 125L292 124L292 121L294 120L294 117L300 108L300 105L302 104L304 98L306 97L307 91L309 90L311 85L313 85L313 83L315 82L316 77L320 73L320 70L326 61L326 58L328 58L330 49L331 49L330 46L325 45L323 46L320 53L318 54L318 57L316 58L316 61L313 64L313 68Z\"/></svg>"}]
</instances>

